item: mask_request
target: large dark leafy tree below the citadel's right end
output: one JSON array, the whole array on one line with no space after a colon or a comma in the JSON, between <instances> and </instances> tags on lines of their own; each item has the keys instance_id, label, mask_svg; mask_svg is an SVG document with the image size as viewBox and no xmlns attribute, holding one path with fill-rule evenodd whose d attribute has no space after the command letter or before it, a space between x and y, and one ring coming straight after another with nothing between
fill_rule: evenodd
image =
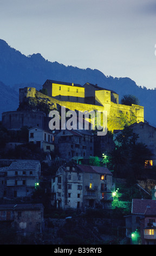
<instances>
[{"instance_id":1,"label":"large dark leafy tree below the citadel's right end","mask_svg":"<svg viewBox=\"0 0 156 256\"><path fill-rule=\"evenodd\" d=\"M137 143L138 137L131 127L125 126L125 129L116 136L119 145L116 145L111 154L115 174L133 182L142 174L145 160L151 159L152 156L145 144Z\"/></svg>"}]
</instances>

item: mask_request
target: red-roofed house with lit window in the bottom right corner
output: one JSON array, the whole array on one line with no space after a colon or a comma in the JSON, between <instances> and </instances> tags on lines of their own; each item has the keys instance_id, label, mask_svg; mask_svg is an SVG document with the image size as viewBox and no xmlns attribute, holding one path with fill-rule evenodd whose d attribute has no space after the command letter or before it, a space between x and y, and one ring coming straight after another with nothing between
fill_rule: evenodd
<instances>
[{"instance_id":1,"label":"red-roofed house with lit window in the bottom right corner","mask_svg":"<svg viewBox=\"0 0 156 256\"><path fill-rule=\"evenodd\" d=\"M134 241L135 244L156 244L155 200L132 199L131 215L125 216L125 219L126 235L131 237L136 231L138 233L138 239Z\"/></svg>"}]
</instances>

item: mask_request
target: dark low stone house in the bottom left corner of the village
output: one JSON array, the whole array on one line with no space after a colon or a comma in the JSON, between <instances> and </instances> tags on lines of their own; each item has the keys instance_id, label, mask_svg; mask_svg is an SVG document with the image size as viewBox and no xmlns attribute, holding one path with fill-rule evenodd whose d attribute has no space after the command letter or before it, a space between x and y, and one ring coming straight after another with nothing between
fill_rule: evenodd
<instances>
[{"instance_id":1,"label":"dark low stone house in the bottom left corner of the village","mask_svg":"<svg viewBox=\"0 0 156 256\"><path fill-rule=\"evenodd\" d=\"M0 222L10 222L23 235L42 233L44 230L42 204L0 205Z\"/></svg>"}]
</instances>

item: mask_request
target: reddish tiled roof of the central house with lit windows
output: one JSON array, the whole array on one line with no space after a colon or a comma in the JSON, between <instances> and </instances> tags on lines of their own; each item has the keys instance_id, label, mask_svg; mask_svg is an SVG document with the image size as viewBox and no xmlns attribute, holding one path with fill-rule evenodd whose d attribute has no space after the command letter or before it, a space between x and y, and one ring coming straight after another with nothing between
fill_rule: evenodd
<instances>
[{"instance_id":1,"label":"reddish tiled roof of the central house with lit windows","mask_svg":"<svg viewBox=\"0 0 156 256\"><path fill-rule=\"evenodd\" d=\"M77 168L81 169L82 172L86 172L86 173L112 175L112 173L104 166L83 166L81 164L77 164Z\"/></svg>"}]
</instances>

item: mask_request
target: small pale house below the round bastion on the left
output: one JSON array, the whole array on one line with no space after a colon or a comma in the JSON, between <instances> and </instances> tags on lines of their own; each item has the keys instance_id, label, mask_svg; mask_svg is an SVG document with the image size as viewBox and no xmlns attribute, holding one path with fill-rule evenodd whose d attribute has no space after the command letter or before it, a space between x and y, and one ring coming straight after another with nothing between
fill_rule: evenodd
<instances>
[{"instance_id":1,"label":"small pale house below the round bastion on the left","mask_svg":"<svg viewBox=\"0 0 156 256\"><path fill-rule=\"evenodd\" d=\"M44 152L54 151L54 134L40 127L29 129L29 142L38 145Z\"/></svg>"}]
</instances>

